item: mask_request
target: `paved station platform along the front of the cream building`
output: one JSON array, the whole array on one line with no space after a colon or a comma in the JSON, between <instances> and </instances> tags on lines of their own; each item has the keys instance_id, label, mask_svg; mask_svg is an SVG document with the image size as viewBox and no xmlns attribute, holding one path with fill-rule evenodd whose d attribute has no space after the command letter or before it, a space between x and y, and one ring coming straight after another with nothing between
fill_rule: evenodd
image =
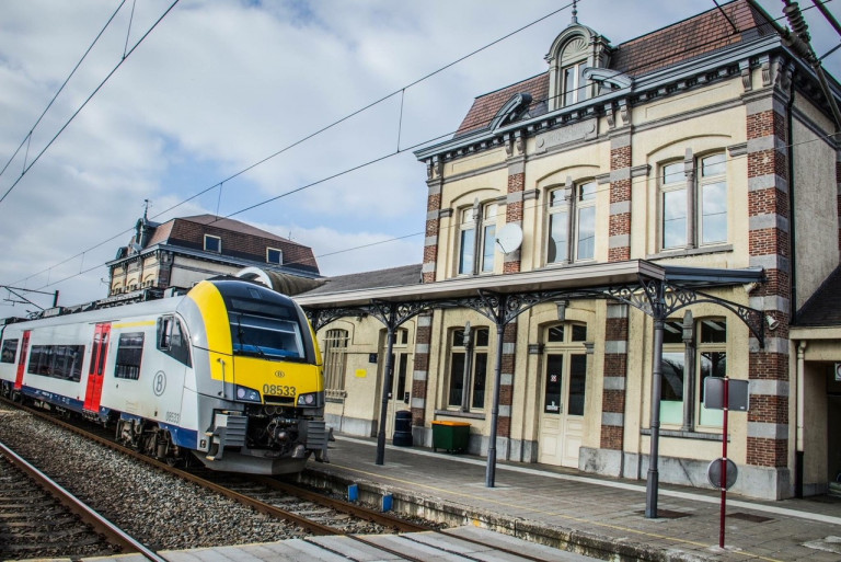
<instances>
[{"instance_id":1,"label":"paved station platform along the front of the cream building","mask_svg":"<svg viewBox=\"0 0 841 562\"><path fill-rule=\"evenodd\" d=\"M486 488L485 458L387 445L377 464L376 439L342 435L329 452L330 463L307 464L307 479L356 483L360 493L392 495L395 509L414 502L422 514L442 509L451 524L549 538L596 558L841 561L839 497L760 502L728 494L721 549L721 492L712 488L660 484L658 518L646 518L644 480L497 462L495 486Z\"/></svg>"}]
</instances>

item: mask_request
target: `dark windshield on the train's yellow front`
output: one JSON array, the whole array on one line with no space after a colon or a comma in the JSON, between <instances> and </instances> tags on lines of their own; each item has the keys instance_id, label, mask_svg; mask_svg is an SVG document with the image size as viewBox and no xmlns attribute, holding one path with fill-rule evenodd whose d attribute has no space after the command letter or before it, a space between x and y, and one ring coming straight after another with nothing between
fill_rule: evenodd
<instances>
[{"instance_id":1,"label":"dark windshield on the train's yellow front","mask_svg":"<svg viewBox=\"0 0 841 562\"><path fill-rule=\"evenodd\" d=\"M274 308L274 307L273 307ZM304 360L301 329L296 318L229 312L233 353L284 360Z\"/></svg>"}]
</instances>

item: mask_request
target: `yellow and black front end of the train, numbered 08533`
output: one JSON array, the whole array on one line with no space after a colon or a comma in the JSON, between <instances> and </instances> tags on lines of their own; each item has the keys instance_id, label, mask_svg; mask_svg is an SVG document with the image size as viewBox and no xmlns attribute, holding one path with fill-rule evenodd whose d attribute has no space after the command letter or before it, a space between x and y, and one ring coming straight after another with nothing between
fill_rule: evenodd
<instances>
[{"instance_id":1,"label":"yellow and black front end of the train, numbered 08533","mask_svg":"<svg viewBox=\"0 0 841 562\"><path fill-rule=\"evenodd\" d=\"M212 470L262 474L325 461L321 354L300 307L260 285L215 279L177 312L195 366L195 401L185 383L181 415L206 428L194 455Z\"/></svg>"}]
</instances>

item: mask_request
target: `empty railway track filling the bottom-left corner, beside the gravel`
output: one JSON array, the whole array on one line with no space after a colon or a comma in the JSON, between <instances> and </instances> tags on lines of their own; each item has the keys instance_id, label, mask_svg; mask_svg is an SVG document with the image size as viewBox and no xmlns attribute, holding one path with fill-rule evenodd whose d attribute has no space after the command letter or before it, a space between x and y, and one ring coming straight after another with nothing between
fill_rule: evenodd
<instances>
[{"instance_id":1,"label":"empty railway track filling the bottom-left corner, beside the gravel","mask_svg":"<svg viewBox=\"0 0 841 562\"><path fill-rule=\"evenodd\" d=\"M0 559L117 552L163 560L0 443Z\"/></svg>"}]
</instances>

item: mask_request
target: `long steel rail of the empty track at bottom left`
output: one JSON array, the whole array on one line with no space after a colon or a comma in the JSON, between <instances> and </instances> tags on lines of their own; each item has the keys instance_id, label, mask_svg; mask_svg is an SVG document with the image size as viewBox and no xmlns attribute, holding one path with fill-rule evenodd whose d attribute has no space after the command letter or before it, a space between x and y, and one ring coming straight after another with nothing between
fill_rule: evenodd
<instances>
[{"instance_id":1,"label":"long steel rail of the empty track at bottom left","mask_svg":"<svg viewBox=\"0 0 841 562\"><path fill-rule=\"evenodd\" d=\"M3 454L9 460L25 472L31 479L33 479L41 488L46 490L50 495L56 497L61 505L70 509L78 515L82 521L89 524L96 532L102 534L108 542L119 546L126 551L139 552L147 559L153 562L166 562L166 559L161 558L154 551L149 550L146 546L139 542L137 539L128 535L126 531L111 523L108 519L93 511L78 497L65 490L60 484L50 479L44 472L31 464L26 459L10 449L4 443L0 441L0 452Z\"/></svg>"}]
</instances>

